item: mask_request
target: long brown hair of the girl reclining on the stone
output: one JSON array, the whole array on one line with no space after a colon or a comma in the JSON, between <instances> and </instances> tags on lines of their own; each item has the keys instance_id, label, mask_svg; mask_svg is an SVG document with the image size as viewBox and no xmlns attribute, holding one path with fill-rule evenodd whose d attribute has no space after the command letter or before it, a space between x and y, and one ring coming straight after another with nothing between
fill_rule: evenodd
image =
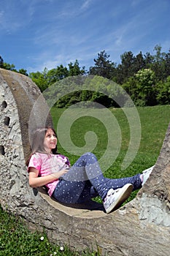
<instances>
[{"instance_id":1,"label":"long brown hair of the girl reclining on the stone","mask_svg":"<svg viewBox=\"0 0 170 256\"><path fill-rule=\"evenodd\" d=\"M47 129L52 129L55 136L56 132L55 129L53 129L52 127L42 127L42 128L38 128L34 131L33 137L31 138L31 155L28 158L28 160L26 161L26 165L28 166L29 164L29 160L32 156L32 154L39 152L39 153L46 153L45 151L45 147L44 147L44 140L45 140L45 135L47 133ZM55 146L55 148L52 149L53 154L58 154L57 153L57 145Z\"/></svg>"}]
</instances>

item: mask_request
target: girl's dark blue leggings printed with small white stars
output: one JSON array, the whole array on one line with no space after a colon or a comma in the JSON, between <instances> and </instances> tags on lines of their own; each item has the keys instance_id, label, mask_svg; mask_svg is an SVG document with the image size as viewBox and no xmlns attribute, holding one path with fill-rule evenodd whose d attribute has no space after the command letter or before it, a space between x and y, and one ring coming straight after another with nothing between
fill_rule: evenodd
<instances>
[{"instance_id":1,"label":"girl's dark blue leggings printed with small white stars","mask_svg":"<svg viewBox=\"0 0 170 256\"><path fill-rule=\"evenodd\" d=\"M90 198L106 197L109 189L123 187L131 183L135 189L142 187L140 173L128 178L105 178L92 153L82 155L77 162L64 174L55 187L53 197L61 203L84 203Z\"/></svg>"}]
</instances>

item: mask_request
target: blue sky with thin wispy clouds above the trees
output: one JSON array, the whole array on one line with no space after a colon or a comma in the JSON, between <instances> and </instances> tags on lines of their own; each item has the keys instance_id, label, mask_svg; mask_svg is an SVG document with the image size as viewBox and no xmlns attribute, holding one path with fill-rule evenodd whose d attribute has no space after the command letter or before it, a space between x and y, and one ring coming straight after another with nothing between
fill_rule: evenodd
<instances>
[{"instance_id":1,"label":"blue sky with thin wispy clouds above the trees","mask_svg":"<svg viewBox=\"0 0 170 256\"><path fill-rule=\"evenodd\" d=\"M101 50L120 55L170 48L170 0L0 0L0 56L28 72L79 61Z\"/></svg>"}]
</instances>

